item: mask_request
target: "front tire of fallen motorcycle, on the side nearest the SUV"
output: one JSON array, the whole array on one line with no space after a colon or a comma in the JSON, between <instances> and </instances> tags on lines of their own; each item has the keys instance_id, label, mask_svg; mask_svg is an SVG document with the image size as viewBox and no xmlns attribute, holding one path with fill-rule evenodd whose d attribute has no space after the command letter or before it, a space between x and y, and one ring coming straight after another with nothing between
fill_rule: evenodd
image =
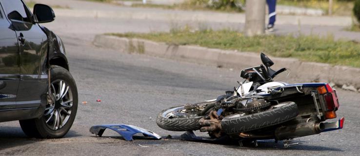
<instances>
[{"instance_id":1,"label":"front tire of fallen motorcycle, on the side nearest the SUV","mask_svg":"<svg viewBox=\"0 0 360 156\"><path fill-rule=\"evenodd\" d=\"M180 107L180 106L178 106ZM172 107L177 108L177 107ZM172 109L169 108L169 109ZM161 111L156 119L156 123L162 129L168 131L195 131L200 130L201 125L199 124L199 120L202 117L194 117L194 118L165 118L163 117L163 113L169 109L165 109Z\"/></svg>"}]
</instances>

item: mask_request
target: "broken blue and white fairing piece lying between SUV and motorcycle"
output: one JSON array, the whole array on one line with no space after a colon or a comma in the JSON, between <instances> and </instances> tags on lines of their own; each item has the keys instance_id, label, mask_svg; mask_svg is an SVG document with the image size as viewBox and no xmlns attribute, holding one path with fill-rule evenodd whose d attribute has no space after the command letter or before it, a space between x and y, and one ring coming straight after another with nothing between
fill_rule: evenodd
<instances>
[{"instance_id":1,"label":"broken blue and white fairing piece lying between SUV and motorcycle","mask_svg":"<svg viewBox=\"0 0 360 156\"><path fill-rule=\"evenodd\" d=\"M101 137L106 128L119 133L121 135L121 137L123 137L127 141L134 140L133 136L137 133L141 133L145 137L153 137L156 139L161 138L159 135L157 135L156 133L151 132L149 130L146 130L146 129L143 129L143 128L140 128L137 126L125 125L125 124L96 125L96 126L92 126L90 128L90 132L92 134L95 134L95 135Z\"/></svg>"}]
</instances>

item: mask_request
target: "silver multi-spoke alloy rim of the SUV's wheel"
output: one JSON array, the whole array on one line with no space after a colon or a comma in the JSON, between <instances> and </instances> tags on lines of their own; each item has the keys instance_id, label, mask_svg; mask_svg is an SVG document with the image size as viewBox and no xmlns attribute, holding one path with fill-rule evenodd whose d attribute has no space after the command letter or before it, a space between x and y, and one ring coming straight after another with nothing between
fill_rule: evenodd
<instances>
[{"instance_id":1,"label":"silver multi-spoke alloy rim of the SUV's wheel","mask_svg":"<svg viewBox=\"0 0 360 156\"><path fill-rule=\"evenodd\" d=\"M50 93L47 94L47 105L44 121L52 130L61 129L71 116L73 96L70 86L61 79L51 82Z\"/></svg>"}]
</instances>

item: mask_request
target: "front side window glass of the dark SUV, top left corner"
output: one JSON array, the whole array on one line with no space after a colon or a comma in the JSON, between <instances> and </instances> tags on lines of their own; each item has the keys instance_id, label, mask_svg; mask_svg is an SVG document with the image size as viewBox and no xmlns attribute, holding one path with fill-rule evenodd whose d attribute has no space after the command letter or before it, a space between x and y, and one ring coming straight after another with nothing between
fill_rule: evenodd
<instances>
[{"instance_id":1,"label":"front side window glass of the dark SUV, top left corner","mask_svg":"<svg viewBox=\"0 0 360 156\"><path fill-rule=\"evenodd\" d=\"M21 19L22 21L30 22L30 18L28 18L25 11L25 5L21 0L2 0L2 6L8 15L14 13L14 11L21 15L22 18L16 18L15 20Z\"/></svg>"}]
</instances>

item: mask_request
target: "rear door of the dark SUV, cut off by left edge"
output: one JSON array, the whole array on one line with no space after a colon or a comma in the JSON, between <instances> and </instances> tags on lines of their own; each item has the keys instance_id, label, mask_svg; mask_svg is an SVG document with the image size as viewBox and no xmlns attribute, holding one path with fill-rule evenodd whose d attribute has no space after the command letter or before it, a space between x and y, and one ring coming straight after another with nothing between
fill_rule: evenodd
<instances>
[{"instance_id":1,"label":"rear door of the dark SUV, cut off by left edge","mask_svg":"<svg viewBox=\"0 0 360 156\"><path fill-rule=\"evenodd\" d=\"M20 52L16 33L0 3L0 110L16 108L20 80Z\"/></svg>"}]
</instances>

